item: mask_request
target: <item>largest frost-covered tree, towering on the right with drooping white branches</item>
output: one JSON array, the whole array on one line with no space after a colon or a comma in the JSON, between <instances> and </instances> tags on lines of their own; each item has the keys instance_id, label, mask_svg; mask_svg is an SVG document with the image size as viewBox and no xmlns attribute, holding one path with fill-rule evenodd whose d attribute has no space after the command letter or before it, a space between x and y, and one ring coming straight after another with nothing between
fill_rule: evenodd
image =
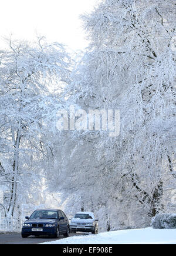
<instances>
[{"instance_id":1,"label":"largest frost-covered tree, towering on the right with drooping white branches","mask_svg":"<svg viewBox=\"0 0 176 256\"><path fill-rule=\"evenodd\" d=\"M146 225L175 188L175 9L173 0L104 0L83 15L91 42L71 98L86 110L120 109L120 135L72 134L58 160L58 177L70 179L55 182L116 227Z\"/></svg>"}]
</instances>

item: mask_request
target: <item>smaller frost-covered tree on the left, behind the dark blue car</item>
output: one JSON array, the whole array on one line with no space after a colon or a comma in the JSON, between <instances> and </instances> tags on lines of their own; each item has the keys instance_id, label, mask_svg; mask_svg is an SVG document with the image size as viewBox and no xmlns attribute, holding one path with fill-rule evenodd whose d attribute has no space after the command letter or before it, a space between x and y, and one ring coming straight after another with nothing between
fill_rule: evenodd
<instances>
[{"instance_id":1,"label":"smaller frost-covered tree on the left, behind the dark blue car","mask_svg":"<svg viewBox=\"0 0 176 256\"><path fill-rule=\"evenodd\" d=\"M0 59L0 184L9 191L4 208L10 217L25 200L42 196L48 138L70 81L70 57L62 45L38 37L34 43L9 39Z\"/></svg>"}]
</instances>

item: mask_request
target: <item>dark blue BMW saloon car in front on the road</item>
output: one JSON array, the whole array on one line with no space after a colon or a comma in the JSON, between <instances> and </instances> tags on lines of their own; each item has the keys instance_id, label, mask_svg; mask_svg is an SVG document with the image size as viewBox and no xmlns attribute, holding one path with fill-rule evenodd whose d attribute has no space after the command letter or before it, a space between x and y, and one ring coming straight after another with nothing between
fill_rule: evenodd
<instances>
[{"instance_id":1,"label":"dark blue BMW saloon car in front on the road","mask_svg":"<svg viewBox=\"0 0 176 256\"><path fill-rule=\"evenodd\" d=\"M69 220L65 213L57 209L41 209L33 212L31 217L25 217L21 235L23 238L29 235L50 235L59 238L60 234L69 237Z\"/></svg>"}]
</instances>

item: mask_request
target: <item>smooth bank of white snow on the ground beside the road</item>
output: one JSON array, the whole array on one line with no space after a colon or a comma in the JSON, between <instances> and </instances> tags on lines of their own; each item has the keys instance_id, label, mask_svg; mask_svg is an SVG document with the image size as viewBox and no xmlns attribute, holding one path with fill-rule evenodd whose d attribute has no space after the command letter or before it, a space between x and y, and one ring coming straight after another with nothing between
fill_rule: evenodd
<instances>
[{"instance_id":1,"label":"smooth bank of white snow on the ground beside the road","mask_svg":"<svg viewBox=\"0 0 176 256\"><path fill-rule=\"evenodd\" d=\"M176 244L175 230L142 228L68 237L42 244Z\"/></svg>"}]
</instances>

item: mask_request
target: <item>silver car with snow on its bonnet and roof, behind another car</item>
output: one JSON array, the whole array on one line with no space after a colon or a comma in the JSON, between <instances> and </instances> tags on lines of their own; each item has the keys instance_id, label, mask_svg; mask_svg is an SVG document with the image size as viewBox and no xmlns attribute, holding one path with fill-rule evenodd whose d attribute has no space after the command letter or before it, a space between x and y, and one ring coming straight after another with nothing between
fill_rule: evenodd
<instances>
[{"instance_id":1,"label":"silver car with snow on its bonnet and roof, behind another car","mask_svg":"<svg viewBox=\"0 0 176 256\"><path fill-rule=\"evenodd\" d=\"M94 218L93 212L80 211L75 214L70 222L70 232L76 233L76 231L98 234L99 223Z\"/></svg>"}]
</instances>

